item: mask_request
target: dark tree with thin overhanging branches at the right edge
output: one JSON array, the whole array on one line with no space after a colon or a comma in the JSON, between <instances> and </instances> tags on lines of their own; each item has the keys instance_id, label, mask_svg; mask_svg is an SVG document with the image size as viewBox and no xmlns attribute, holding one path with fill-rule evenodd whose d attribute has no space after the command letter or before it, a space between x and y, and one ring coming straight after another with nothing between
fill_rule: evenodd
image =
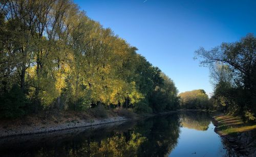
<instances>
[{"instance_id":1,"label":"dark tree with thin overhanging branches at the right edge","mask_svg":"<svg viewBox=\"0 0 256 157\"><path fill-rule=\"evenodd\" d=\"M238 42L222 43L211 50L200 48L195 51L195 54L196 58L200 58L201 65L212 67L212 63L221 63L222 69L215 74L219 79L216 90L226 87L223 84L229 80L228 82L233 86L233 92L227 92L225 95L219 94L219 97L224 96L225 101L231 102L230 107L237 108L239 113L246 118L255 119L253 117L256 113L254 104L256 97L256 37L253 34L247 34ZM235 95L227 96L227 94ZM239 97L239 99L232 97Z\"/></svg>"}]
</instances>

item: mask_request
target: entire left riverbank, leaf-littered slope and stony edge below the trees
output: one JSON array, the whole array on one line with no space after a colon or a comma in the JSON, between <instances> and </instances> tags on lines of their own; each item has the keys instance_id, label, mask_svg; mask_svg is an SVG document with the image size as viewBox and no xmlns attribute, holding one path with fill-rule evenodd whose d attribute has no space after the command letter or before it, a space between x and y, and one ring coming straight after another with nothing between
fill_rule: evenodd
<instances>
[{"instance_id":1,"label":"entire left riverbank, leaf-littered slope and stony edge below the trees","mask_svg":"<svg viewBox=\"0 0 256 157\"><path fill-rule=\"evenodd\" d=\"M177 111L159 113L169 114ZM77 127L87 127L136 120L159 114L135 114L131 110L89 110L87 112L52 111L29 115L20 119L0 120L0 138L49 133Z\"/></svg>"}]
</instances>

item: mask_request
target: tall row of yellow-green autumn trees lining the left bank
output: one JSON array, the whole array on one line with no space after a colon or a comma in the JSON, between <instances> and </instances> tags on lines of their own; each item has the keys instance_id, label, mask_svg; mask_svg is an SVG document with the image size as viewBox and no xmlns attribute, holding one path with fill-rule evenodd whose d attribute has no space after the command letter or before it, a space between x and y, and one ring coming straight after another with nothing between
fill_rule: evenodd
<instances>
[{"instance_id":1,"label":"tall row of yellow-green autumn trees lining the left bank","mask_svg":"<svg viewBox=\"0 0 256 157\"><path fill-rule=\"evenodd\" d=\"M177 88L72 1L0 2L0 116L44 109L175 110Z\"/></svg>"}]
</instances>

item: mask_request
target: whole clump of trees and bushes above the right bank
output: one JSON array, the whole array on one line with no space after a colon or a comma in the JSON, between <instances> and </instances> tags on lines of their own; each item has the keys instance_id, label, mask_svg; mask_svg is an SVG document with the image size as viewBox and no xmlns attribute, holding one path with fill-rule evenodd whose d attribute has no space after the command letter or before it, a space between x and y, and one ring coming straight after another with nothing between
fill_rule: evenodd
<instances>
[{"instance_id":1,"label":"whole clump of trees and bushes above the right bank","mask_svg":"<svg viewBox=\"0 0 256 157\"><path fill-rule=\"evenodd\" d=\"M214 109L255 120L256 37L248 34L238 42L222 43L211 50L200 48L195 53L210 68Z\"/></svg>"}]
</instances>

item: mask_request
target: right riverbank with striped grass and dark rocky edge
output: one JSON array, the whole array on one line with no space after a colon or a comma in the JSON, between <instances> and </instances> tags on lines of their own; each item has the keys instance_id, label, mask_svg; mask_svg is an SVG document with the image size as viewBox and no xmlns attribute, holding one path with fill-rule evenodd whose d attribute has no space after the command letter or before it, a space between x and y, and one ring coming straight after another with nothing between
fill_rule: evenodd
<instances>
[{"instance_id":1,"label":"right riverbank with striped grass and dark rocky edge","mask_svg":"<svg viewBox=\"0 0 256 157\"><path fill-rule=\"evenodd\" d=\"M241 117L212 112L215 132L223 142L242 156L256 156L256 123L245 123Z\"/></svg>"}]
</instances>

